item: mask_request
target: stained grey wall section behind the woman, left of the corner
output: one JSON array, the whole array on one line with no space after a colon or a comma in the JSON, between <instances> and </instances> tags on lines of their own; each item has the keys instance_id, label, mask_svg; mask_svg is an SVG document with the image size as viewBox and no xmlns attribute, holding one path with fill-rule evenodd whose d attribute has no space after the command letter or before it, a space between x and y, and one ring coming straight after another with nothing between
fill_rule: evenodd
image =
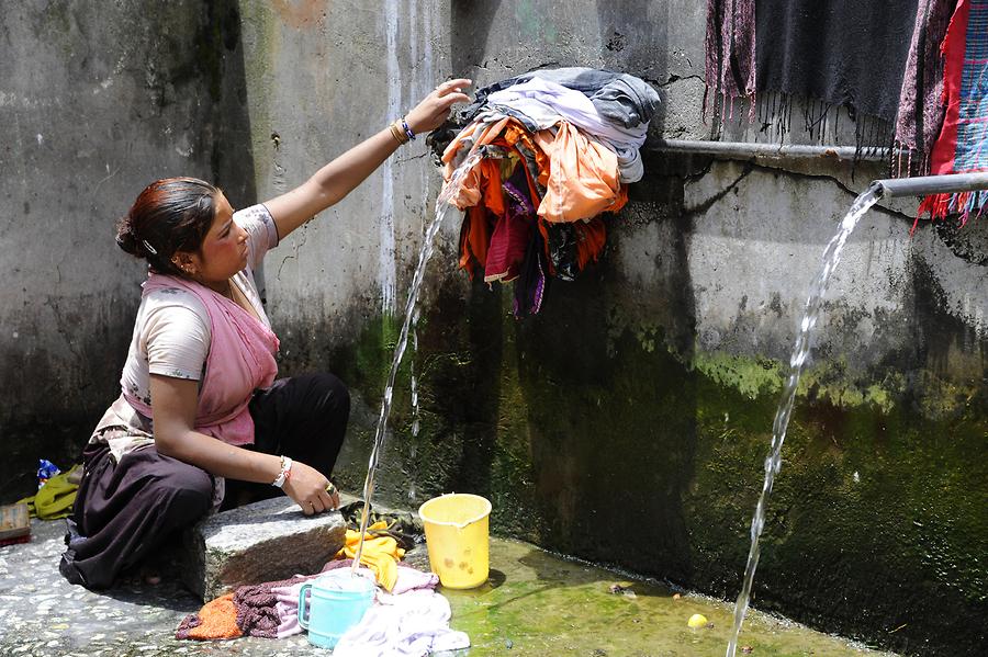
<instances>
[{"instance_id":1,"label":"stained grey wall section behind the woman, left of the corner","mask_svg":"<svg viewBox=\"0 0 988 657\"><path fill-rule=\"evenodd\" d=\"M114 224L137 193L186 174L254 195L249 141L220 148L231 126L249 134L234 102L244 90L235 10L2 3L3 498L30 490L38 457L69 465L119 394L143 268L116 248Z\"/></svg>"}]
</instances>

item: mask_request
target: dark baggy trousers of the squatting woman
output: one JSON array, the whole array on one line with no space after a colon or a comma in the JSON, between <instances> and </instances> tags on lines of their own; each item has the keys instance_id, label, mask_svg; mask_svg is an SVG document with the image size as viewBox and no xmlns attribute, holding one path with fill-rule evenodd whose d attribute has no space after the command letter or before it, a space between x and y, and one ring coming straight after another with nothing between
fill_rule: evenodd
<instances>
[{"instance_id":1,"label":"dark baggy trousers of the squatting woman","mask_svg":"<svg viewBox=\"0 0 988 657\"><path fill-rule=\"evenodd\" d=\"M250 401L255 444L249 449L284 454L333 472L346 433L350 397L332 374L281 378ZM205 471L159 454L154 446L114 463L106 445L89 444L83 474L68 519L67 550L59 571L90 589L113 585L122 570L139 564L176 532L212 507L213 477ZM268 484L226 480L227 500L252 501L282 495ZM245 497L247 499L245 499Z\"/></svg>"}]
</instances>

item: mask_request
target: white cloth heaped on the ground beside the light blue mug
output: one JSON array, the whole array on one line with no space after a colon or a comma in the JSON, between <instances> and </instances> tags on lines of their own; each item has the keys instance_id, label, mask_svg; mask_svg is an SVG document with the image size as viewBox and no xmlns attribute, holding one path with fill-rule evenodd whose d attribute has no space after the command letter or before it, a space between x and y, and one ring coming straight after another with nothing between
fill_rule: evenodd
<instances>
[{"instance_id":1,"label":"white cloth heaped on the ground beside the light blue mug","mask_svg":"<svg viewBox=\"0 0 988 657\"><path fill-rule=\"evenodd\" d=\"M340 637L333 657L423 657L470 647L464 632L449 627L449 602L431 589L379 591L377 602Z\"/></svg>"}]
</instances>

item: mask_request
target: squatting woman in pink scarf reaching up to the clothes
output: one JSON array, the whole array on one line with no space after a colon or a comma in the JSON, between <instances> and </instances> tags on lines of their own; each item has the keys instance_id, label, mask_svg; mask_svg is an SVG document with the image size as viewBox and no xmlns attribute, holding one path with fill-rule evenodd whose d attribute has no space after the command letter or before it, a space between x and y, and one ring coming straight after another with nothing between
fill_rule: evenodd
<instances>
[{"instance_id":1,"label":"squatting woman in pink scarf reaching up to the clothes","mask_svg":"<svg viewBox=\"0 0 988 657\"><path fill-rule=\"evenodd\" d=\"M192 178L159 180L141 193L116 240L146 259L150 274L122 395L83 452L59 566L69 581L106 588L221 500L235 506L258 489L281 489L306 514L339 505L328 477L349 396L328 374L276 381L278 338L252 273L268 249L401 144L438 127L452 104L469 100L468 84L444 82L299 188L240 212Z\"/></svg>"}]
</instances>

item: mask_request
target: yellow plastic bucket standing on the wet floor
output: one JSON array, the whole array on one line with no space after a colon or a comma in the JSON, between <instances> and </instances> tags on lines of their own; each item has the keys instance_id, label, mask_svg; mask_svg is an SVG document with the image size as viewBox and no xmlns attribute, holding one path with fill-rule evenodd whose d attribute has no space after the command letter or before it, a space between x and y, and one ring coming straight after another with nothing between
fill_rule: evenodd
<instances>
[{"instance_id":1,"label":"yellow plastic bucket standing on the wet floor","mask_svg":"<svg viewBox=\"0 0 988 657\"><path fill-rule=\"evenodd\" d=\"M491 502L479 495L450 492L418 508L429 566L444 587L472 589L487 581Z\"/></svg>"}]
</instances>

